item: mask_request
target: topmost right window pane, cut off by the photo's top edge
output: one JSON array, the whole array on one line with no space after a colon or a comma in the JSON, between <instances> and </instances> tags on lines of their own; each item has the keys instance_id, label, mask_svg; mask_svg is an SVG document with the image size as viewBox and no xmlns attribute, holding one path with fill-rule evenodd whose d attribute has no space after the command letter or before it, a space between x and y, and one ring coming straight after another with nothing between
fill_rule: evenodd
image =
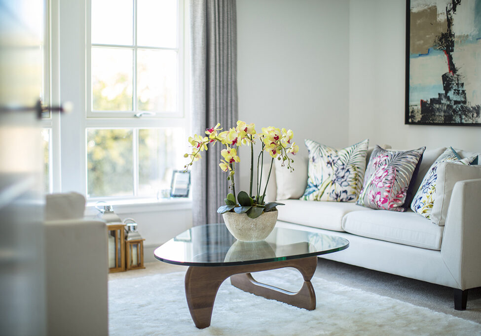
<instances>
[{"instance_id":1,"label":"topmost right window pane, cut off by the photo's top edge","mask_svg":"<svg viewBox=\"0 0 481 336\"><path fill-rule=\"evenodd\" d=\"M177 47L177 0L137 0L137 45Z\"/></svg>"}]
</instances>

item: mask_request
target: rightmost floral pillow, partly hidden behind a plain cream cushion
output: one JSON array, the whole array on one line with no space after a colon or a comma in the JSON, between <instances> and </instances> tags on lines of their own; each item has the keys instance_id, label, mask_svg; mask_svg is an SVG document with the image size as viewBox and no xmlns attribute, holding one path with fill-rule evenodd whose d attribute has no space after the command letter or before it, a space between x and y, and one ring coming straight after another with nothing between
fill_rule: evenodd
<instances>
[{"instance_id":1,"label":"rightmost floral pillow, partly hidden behind a plain cream cushion","mask_svg":"<svg viewBox=\"0 0 481 336\"><path fill-rule=\"evenodd\" d=\"M478 158L478 156L472 156L469 158L461 159L461 157L452 148L446 148L443 154L441 154L436 161L431 165L426 176L424 176L421 186L419 187L414 199L411 203L411 210L417 212L423 217L431 218L431 212L433 210L433 204L436 195L436 180L438 178L438 166L441 162L452 162L460 165L471 165Z\"/></svg>"}]
</instances>

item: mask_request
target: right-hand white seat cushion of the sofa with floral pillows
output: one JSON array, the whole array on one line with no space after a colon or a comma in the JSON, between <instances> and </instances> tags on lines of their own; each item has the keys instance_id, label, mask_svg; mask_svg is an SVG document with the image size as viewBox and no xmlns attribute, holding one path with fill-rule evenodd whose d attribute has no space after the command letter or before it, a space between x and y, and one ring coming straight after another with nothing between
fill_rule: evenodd
<instances>
[{"instance_id":1,"label":"right-hand white seat cushion of the sofa with floral pillows","mask_svg":"<svg viewBox=\"0 0 481 336\"><path fill-rule=\"evenodd\" d=\"M441 250L443 227L412 211L354 211L342 220L342 229L353 235Z\"/></svg>"}]
</instances>

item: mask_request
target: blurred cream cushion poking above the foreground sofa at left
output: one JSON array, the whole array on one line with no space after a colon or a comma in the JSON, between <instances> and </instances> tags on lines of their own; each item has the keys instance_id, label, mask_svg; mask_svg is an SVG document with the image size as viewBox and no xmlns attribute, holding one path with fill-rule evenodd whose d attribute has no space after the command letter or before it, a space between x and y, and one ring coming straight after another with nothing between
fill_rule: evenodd
<instances>
[{"instance_id":1,"label":"blurred cream cushion poking above the foreground sofa at left","mask_svg":"<svg viewBox=\"0 0 481 336\"><path fill-rule=\"evenodd\" d=\"M45 221L80 219L85 210L85 197L78 193L49 194L45 197Z\"/></svg>"}]
</instances>

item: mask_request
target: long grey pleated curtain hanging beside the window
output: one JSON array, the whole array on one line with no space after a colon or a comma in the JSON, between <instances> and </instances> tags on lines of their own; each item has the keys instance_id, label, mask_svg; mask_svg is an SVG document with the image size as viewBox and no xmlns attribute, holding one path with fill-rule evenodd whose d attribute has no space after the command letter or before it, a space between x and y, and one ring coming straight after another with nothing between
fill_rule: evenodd
<instances>
[{"instance_id":1,"label":"long grey pleated curtain hanging beside the window","mask_svg":"<svg viewBox=\"0 0 481 336\"><path fill-rule=\"evenodd\" d=\"M190 0L193 132L237 121L237 38L235 0ZM210 147L210 146L209 146ZM221 146L202 152L192 167L193 224L222 223L217 208L228 192L219 168Z\"/></svg>"}]
</instances>

